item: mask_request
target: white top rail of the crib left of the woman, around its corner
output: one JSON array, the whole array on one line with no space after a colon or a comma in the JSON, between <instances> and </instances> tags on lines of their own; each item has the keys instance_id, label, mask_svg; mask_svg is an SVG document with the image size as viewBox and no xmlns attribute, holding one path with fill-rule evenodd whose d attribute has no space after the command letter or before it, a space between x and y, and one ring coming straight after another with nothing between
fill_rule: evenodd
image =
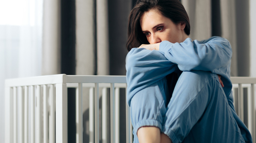
<instances>
[{"instance_id":1,"label":"white top rail of the crib left of the woman, around its corner","mask_svg":"<svg viewBox=\"0 0 256 143\"><path fill-rule=\"evenodd\" d=\"M126 76L112 75L43 75L5 80L5 87L34 86L66 83L126 83Z\"/></svg>"}]
</instances>

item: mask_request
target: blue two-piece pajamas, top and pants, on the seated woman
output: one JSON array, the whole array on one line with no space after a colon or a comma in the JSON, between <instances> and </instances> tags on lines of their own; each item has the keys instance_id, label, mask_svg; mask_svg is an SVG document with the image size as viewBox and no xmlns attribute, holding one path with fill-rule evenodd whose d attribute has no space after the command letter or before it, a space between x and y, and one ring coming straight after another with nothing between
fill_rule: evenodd
<instances>
[{"instance_id":1,"label":"blue two-piece pajamas, top and pants, on the seated woman","mask_svg":"<svg viewBox=\"0 0 256 143\"><path fill-rule=\"evenodd\" d=\"M127 102L134 142L143 126L156 126L176 142L252 142L233 107L230 82L232 51L213 37L182 43L163 41L160 51L133 48L126 58ZM166 76L183 71L172 97ZM217 74L222 76L221 87Z\"/></svg>"}]
</instances>

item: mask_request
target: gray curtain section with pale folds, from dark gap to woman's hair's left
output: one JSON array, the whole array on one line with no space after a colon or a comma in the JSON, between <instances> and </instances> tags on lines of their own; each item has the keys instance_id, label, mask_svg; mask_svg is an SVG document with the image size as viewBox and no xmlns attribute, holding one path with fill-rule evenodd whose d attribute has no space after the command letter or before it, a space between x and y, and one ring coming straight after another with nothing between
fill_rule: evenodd
<instances>
[{"instance_id":1,"label":"gray curtain section with pale folds, from dark gap to woman's hair's left","mask_svg":"<svg viewBox=\"0 0 256 143\"><path fill-rule=\"evenodd\" d=\"M125 75L126 0L76 0L76 74Z\"/></svg>"}]
</instances>

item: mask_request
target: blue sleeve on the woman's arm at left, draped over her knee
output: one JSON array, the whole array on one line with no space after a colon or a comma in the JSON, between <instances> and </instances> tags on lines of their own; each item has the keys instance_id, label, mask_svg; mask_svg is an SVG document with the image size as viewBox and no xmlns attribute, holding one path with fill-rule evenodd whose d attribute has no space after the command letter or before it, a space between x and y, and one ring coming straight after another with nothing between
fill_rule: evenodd
<instances>
[{"instance_id":1,"label":"blue sleeve on the woman's arm at left, draped over her knee","mask_svg":"<svg viewBox=\"0 0 256 143\"><path fill-rule=\"evenodd\" d=\"M128 105L130 106L132 97L138 91L177 69L177 65L169 61L161 51L133 48L126 56Z\"/></svg>"}]
</instances>

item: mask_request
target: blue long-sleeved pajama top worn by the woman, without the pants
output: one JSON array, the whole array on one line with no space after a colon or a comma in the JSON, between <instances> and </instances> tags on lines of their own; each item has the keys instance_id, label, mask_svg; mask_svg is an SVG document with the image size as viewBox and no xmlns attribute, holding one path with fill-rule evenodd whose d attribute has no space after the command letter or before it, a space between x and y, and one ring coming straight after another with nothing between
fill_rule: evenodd
<instances>
[{"instance_id":1,"label":"blue long-sleeved pajama top worn by the woman, without the pants","mask_svg":"<svg viewBox=\"0 0 256 143\"><path fill-rule=\"evenodd\" d=\"M232 114L245 142L252 142L251 135L242 120L237 116L230 81L232 49L228 40L211 37L207 40L187 38L181 43L162 41L159 51L133 48L126 57L127 103L140 90L165 78L168 74L181 70L211 71L222 77L223 90Z\"/></svg>"}]
</instances>

